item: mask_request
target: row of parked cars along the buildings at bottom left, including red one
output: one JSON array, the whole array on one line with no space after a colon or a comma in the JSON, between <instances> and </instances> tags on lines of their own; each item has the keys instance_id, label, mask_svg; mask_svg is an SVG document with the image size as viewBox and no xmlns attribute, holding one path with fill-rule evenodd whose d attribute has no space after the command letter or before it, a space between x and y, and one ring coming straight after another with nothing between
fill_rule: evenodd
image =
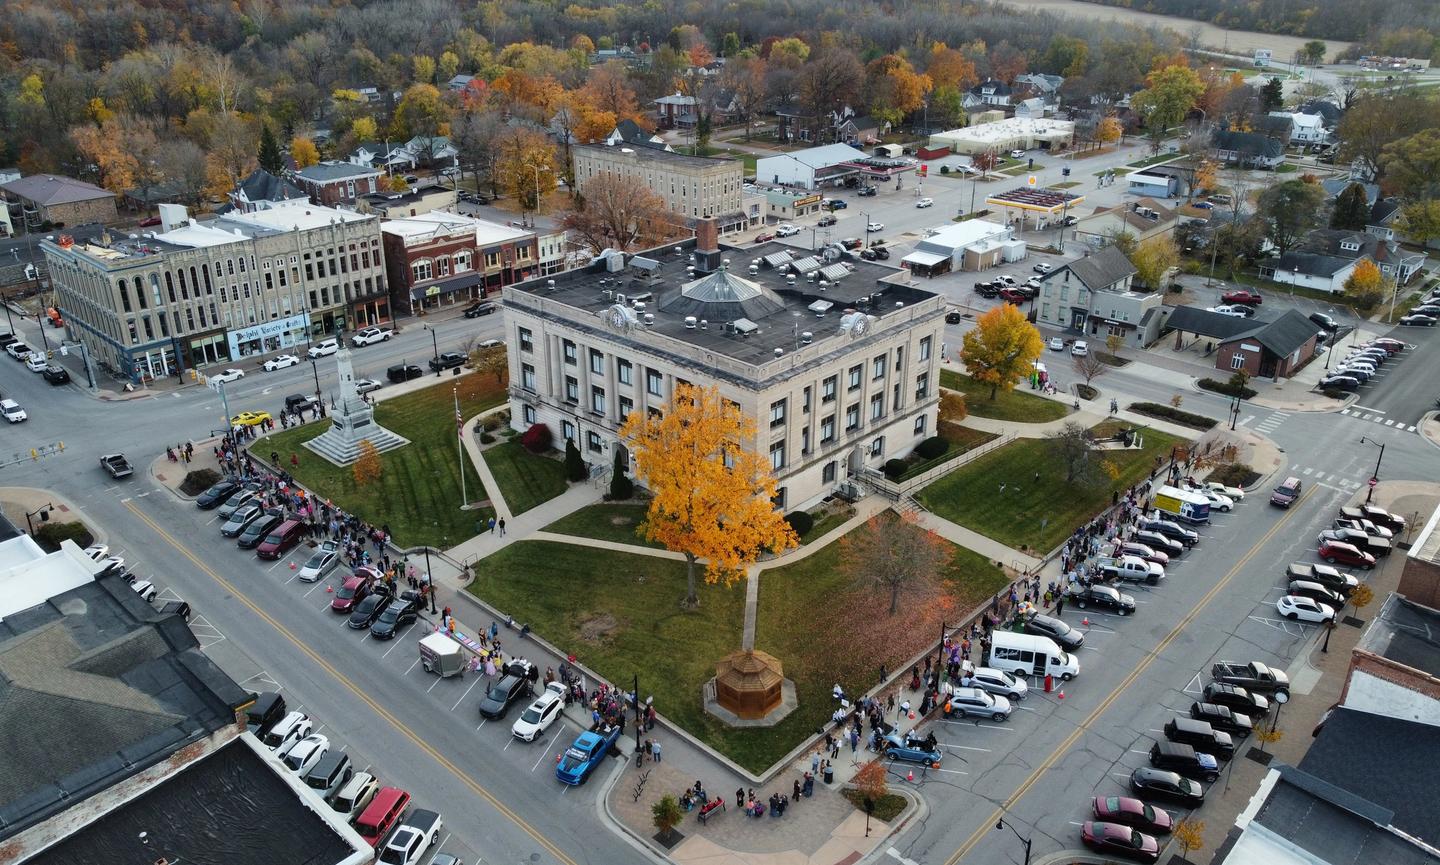
<instances>
[{"instance_id":1,"label":"row of parked cars along the buildings at bottom left, including red one","mask_svg":"<svg viewBox=\"0 0 1440 865\"><path fill-rule=\"evenodd\" d=\"M439 842L444 826L439 813L410 810L409 793L382 787L373 774L356 770L348 754L314 731L310 715L287 711L279 694L255 694L246 708L246 727L287 770L354 826L376 851L377 862L416 865Z\"/></svg>"}]
</instances>

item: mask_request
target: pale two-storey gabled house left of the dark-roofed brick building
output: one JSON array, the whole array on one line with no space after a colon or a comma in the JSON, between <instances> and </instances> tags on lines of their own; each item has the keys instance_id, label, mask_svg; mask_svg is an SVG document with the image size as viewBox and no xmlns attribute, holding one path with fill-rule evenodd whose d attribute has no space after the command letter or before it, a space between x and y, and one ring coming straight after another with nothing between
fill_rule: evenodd
<instances>
[{"instance_id":1,"label":"pale two-storey gabled house left of the dark-roofed brick building","mask_svg":"<svg viewBox=\"0 0 1440 865\"><path fill-rule=\"evenodd\" d=\"M1104 341L1110 335L1143 348L1159 338L1159 292L1132 291L1135 265L1116 246L1104 246L1047 273L1035 298L1037 321Z\"/></svg>"}]
</instances>

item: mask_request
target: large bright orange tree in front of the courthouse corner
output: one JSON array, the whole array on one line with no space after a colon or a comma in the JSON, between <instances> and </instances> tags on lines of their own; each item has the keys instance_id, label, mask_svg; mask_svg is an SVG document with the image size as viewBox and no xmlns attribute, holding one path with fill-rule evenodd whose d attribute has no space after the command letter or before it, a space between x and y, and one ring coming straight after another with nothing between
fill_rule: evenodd
<instances>
[{"instance_id":1,"label":"large bright orange tree in front of the courthouse corner","mask_svg":"<svg viewBox=\"0 0 1440 865\"><path fill-rule=\"evenodd\" d=\"M701 558L706 583L729 587L762 551L799 544L772 501L770 466L753 450L755 420L717 389L675 386L662 415L632 413L621 438L654 497L641 525L645 540L685 556L685 606L700 604Z\"/></svg>"}]
</instances>

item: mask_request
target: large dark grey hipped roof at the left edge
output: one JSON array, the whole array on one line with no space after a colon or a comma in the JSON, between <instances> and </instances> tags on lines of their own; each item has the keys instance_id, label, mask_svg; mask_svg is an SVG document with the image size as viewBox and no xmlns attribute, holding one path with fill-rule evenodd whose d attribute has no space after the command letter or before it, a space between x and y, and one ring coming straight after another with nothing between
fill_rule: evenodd
<instances>
[{"instance_id":1,"label":"large dark grey hipped roof at the left edge","mask_svg":"<svg viewBox=\"0 0 1440 865\"><path fill-rule=\"evenodd\" d=\"M6 616L0 838L233 724L248 699L184 619L161 616L120 577Z\"/></svg>"}]
</instances>

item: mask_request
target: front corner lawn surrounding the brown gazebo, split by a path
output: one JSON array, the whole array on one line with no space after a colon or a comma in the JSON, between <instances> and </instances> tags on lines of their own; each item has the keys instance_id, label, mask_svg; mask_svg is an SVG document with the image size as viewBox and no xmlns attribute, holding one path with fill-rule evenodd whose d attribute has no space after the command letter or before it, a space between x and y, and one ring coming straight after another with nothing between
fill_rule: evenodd
<instances>
[{"instance_id":1,"label":"front corner lawn surrounding the brown gazebo, split by a path","mask_svg":"<svg viewBox=\"0 0 1440 865\"><path fill-rule=\"evenodd\" d=\"M743 584L701 586L700 607L683 610L683 563L518 541L482 558L468 590L612 682L624 685L638 674L641 692L654 694L661 712L760 771L829 718L837 681L857 692L874 685L881 664L894 669L937 638L943 616L958 617L1005 584L999 569L955 547L950 569L929 589L917 589L914 609L891 619L888 596L855 586L838 563L832 544L760 579L756 648L780 659L801 704L765 730L726 727L701 702L716 662L740 646Z\"/></svg>"}]
</instances>

